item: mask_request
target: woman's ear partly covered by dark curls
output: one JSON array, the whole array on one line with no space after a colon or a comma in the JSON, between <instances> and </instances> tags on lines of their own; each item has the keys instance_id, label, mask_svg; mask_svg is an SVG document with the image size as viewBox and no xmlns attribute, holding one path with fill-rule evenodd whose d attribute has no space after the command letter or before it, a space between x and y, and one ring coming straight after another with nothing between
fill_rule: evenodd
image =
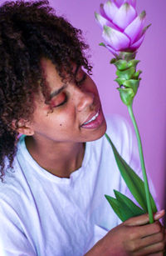
<instances>
[{"instance_id":1,"label":"woman's ear partly covered by dark curls","mask_svg":"<svg viewBox=\"0 0 166 256\"><path fill-rule=\"evenodd\" d=\"M21 119L18 121L17 125L16 123L16 120L12 120L12 128L17 131L17 133L22 133L27 136L32 136L34 134L30 121Z\"/></svg>"}]
</instances>

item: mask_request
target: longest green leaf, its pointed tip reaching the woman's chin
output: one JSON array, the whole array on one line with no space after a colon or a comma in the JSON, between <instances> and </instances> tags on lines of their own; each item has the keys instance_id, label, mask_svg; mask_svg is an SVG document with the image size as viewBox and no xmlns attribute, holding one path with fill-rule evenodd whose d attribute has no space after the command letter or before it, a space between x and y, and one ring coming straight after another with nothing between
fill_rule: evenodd
<instances>
[{"instance_id":1,"label":"longest green leaf, its pointed tip reaching the woman's chin","mask_svg":"<svg viewBox=\"0 0 166 256\"><path fill-rule=\"evenodd\" d=\"M120 156L120 154L115 148L115 145L112 143L112 141L110 140L110 137L106 133L105 133L105 137L107 138L107 140L109 141L113 149L116 163L118 165L118 168L120 170L122 177L125 180L126 185L128 186L130 192L133 194L136 201L147 213L148 208L147 208L146 196L144 191L144 182L142 181L141 178L139 178L139 176L136 173L134 173L134 170L130 168L129 164L126 163L125 160ZM150 194L150 199L151 199L152 210L154 213L156 213L157 208L154 203L154 198L152 197L151 194Z\"/></svg>"}]
</instances>

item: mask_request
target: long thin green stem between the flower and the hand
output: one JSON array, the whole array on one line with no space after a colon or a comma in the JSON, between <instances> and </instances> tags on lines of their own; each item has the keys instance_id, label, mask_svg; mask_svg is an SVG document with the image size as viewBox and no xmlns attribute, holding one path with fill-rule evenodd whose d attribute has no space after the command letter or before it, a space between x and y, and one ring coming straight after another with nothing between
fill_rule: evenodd
<instances>
[{"instance_id":1,"label":"long thin green stem between the flower and the hand","mask_svg":"<svg viewBox=\"0 0 166 256\"><path fill-rule=\"evenodd\" d=\"M145 189L146 201L147 201L147 207L148 207L148 213L149 213L149 223L154 223L154 217L153 217L153 212L152 212L152 207L151 207L151 202L150 202L148 178L147 178L146 169L144 166L143 148L142 148L142 143L141 143L141 139L140 139L140 135L139 135L139 128L138 128L136 120L134 118L132 103L128 106L128 110L129 110L129 116L134 125L134 131L136 133L136 137L137 137L137 141L138 141L138 145L139 145L139 158L140 158L140 163L141 163L141 168L142 168L143 178L144 178L144 189Z\"/></svg>"}]
</instances>

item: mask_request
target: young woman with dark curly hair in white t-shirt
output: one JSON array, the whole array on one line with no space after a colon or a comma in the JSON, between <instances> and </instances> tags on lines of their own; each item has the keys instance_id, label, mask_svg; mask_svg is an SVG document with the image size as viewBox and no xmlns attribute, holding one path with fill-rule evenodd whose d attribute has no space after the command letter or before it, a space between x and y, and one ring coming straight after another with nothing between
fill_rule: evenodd
<instances>
[{"instance_id":1,"label":"young woman with dark curly hair in white t-shirt","mask_svg":"<svg viewBox=\"0 0 166 256\"><path fill-rule=\"evenodd\" d=\"M86 48L47 1L0 8L1 255L162 255L164 211L120 224L104 198L128 192ZM107 124L134 166L128 125Z\"/></svg>"}]
</instances>

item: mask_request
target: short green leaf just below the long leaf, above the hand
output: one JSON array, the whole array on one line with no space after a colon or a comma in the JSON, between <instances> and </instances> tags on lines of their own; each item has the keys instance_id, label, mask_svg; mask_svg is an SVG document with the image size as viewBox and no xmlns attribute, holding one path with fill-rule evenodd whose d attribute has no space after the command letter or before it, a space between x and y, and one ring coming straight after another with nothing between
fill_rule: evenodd
<instances>
[{"instance_id":1,"label":"short green leaf just below the long leaf, above the hand","mask_svg":"<svg viewBox=\"0 0 166 256\"><path fill-rule=\"evenodd\" d=\"M139 216L145 213L145 211L142 208L139 208L139 206L137 206L132 200L126 197L123 193L120 193L117 190L114 190L114 193L119 203L124 205L124 208L129 209L129 218L134 216Z\"/></svg>"}]
</instances>

